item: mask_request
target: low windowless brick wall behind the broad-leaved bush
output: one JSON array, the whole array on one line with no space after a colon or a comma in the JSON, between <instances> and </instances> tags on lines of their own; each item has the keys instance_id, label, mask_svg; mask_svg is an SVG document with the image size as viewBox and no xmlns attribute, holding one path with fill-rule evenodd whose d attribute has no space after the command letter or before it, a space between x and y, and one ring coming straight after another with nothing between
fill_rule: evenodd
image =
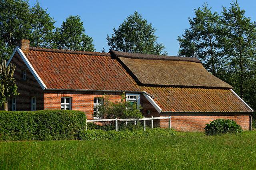
<instances>
[{"instance_id":1,"label":"low windowless brick wall behind the broad-leaved bush","mask_svg":"<svg viewBox=\"0 0 256 170\"><path fill-rule=\"evenodd\" d=\"M231 119L236 121L243 130L250 129L250 113L171 113L171 127L177 131L204 131L206 123L215 119ZM168 119L160 120L160 127L168 128Z\"/></svg>"}]
</instances>

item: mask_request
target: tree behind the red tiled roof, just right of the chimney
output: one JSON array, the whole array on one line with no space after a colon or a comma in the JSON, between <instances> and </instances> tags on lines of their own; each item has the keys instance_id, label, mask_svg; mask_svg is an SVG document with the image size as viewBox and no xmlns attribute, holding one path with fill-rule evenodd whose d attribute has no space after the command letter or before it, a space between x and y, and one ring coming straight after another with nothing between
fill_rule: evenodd
<instances>
[{"instance_id":1,"label":"tree behind the red tiled roof, just right of the chimney","mask_svg":"<svg viewBox=\"0 0 256 170\"><path fill-rule=\"evenodd\" d=\"M53 48L95 51L92 38L85 33L80 16L69 16L54 33Z\"/></svg>"}]
</instances>

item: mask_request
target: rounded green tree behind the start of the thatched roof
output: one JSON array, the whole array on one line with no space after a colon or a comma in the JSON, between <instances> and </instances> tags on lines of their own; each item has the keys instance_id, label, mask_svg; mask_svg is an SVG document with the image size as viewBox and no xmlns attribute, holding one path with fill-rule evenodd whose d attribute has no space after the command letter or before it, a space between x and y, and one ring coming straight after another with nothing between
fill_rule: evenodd
<instances>
[{"instance_id":1,"label":"rounded green tree behind the start of the thatched roof","mask_svg":"<svg viewBox=\"0 0 256 170\"><path fill-rule=\"evenodd\" d=\"M156 28L148 24L138 12L128 16L126 20L118 27L113 29L114 34L107 35L107 44L110 49L117 51L126 51L134 53L162 54L165 46L157 43L157 36L154 35Z\"/></svg>"}]
</instances>

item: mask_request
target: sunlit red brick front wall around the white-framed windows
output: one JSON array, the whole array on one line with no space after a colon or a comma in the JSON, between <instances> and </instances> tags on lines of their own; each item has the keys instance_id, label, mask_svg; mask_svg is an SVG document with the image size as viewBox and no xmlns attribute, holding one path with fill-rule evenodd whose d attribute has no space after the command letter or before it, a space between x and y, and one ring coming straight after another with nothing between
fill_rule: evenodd
<instances>
[{"instance_id":1,"label":"sunlit red brick front wall around the white-framed windows","mask_svg":"<svg viewBox=\"0 0 256 170\"><path fill-rule=\"evenodd\" d=\"M122 93L101 93L82 91L45 91L44 109L60 109L61 97L72 97L72 110L83 111L88 119L93 119L94 97L108 96L110 101L120 101Z\"/></svg>"}]
</instances>

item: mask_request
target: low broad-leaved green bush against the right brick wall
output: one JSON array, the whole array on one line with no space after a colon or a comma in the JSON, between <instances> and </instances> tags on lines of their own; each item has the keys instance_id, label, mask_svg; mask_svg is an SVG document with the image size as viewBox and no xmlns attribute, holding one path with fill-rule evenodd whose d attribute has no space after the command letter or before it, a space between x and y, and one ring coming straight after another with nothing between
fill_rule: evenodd
<instances>
[{"instance_id":1,"label":"low broad-leaved green bush against the right brick wall","mask_svg":"<svg viewBox=\"0 0 256 170\"><path fill-rule=\"evenodd\" d=\"M216 135L224 133L241 133L243 130L235 121L230 119L216 119L204 128L206 135Z\"/></svg>"}]
</instances>

